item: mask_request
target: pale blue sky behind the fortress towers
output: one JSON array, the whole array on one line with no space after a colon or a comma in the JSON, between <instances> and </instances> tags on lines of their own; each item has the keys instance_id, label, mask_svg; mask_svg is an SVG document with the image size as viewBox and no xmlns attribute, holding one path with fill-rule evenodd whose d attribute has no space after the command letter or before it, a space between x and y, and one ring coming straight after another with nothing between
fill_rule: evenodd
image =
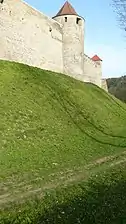
<instances>
[{"instance_id":1,"label":"pale blue sky behind the fortress towers","mask_svg":"<svg viewBox=\"0 0 126 224\"><path fill-rule=\"evenodd\" d=\"M65 0L25 0L42 13L52 17ZM103 77L126 75L126 37L120 29L112 0L70 0L75 11L85 19L84 51L102 60Z\"/></svg>"}]
</instances>

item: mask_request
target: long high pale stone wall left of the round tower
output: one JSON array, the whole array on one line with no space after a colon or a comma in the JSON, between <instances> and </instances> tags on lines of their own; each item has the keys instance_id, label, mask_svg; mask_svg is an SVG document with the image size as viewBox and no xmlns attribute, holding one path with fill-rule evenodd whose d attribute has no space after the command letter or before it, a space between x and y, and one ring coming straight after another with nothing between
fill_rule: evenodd
<instances>
[{"instance_id":1,"label":"long high pale stone wall left of the round tower","mask_svg":"<svg viewBox=\"0 0 126 224\"><path fill-rule=\"evenodd\" d=\"M21 0L0 3L0 58L63 71L62 26Z\"/></svg>"}]
</instances>

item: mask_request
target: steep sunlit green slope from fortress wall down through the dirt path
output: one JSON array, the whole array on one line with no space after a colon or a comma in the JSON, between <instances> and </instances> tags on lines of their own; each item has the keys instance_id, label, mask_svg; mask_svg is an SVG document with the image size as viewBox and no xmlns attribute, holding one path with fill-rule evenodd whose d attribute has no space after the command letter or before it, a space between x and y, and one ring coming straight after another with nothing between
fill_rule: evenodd
<instances>
[{"instance_id":1,"label":"steep sunlit green slope from fortress wall down through the dirt path","mask_svg":"<svg viewBox=\"0 0 126 224\"><path fill-rule=\"evenodd\" d=\"M0 121L1 208L125 162L126 105L62 74L0 61Z\"/></svg>"}]
</instances>

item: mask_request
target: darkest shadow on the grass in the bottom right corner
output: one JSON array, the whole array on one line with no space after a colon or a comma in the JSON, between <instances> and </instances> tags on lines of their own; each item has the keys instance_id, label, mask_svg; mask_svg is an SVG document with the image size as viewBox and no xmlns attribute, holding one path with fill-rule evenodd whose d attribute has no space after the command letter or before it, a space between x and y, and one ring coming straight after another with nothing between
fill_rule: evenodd
<instances>
[{"instance_id":1,"label":"darkest shadow on the grass in the bottom right corner","mask_svg":"<svg viewBox=\"0 0 126 224\"><path fill-rule=\"evenodd\" d=\"M81 194L62 205L45 211L36 224L126 224L126 181L109 186L90 183L88 190L81 186Z\"/></svg>"}]
</instances>

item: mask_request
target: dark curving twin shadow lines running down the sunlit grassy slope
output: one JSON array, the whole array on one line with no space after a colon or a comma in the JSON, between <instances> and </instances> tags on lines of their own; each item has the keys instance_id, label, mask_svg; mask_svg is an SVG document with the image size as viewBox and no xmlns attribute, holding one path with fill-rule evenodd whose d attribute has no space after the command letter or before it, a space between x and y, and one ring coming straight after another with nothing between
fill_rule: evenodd
<instances>
[{"instance_id":1,"label":"dark curving twin shadow lines running down the sunlit grassy slope","mask_svg":"<svg viewBox=\"0 0 126 224\"><path fill-rule=\"evenodd\" d=\"M51 83L53 85L53 83ZM94 141L104 144L104 145L111 145L114 147L120 147L120 148L125 148L126 145L120 145L120 144L114 144L112 142L106 142L103 141L102 139L98 139L95 136L93 136L91 133L88 133L85 129L85 121L88 123L88 126L92 126L92 128L94 128L94 130L96 130L96 132L99 132L99 134L103 134L105 137L112 137L112 138L117 138L117 140L123 139L126 140L125 136L119 136L119 135L112 135L110 133L106 133L102 127L98 127L94 124L93 121L90 120L90 117L88 117L88 115L84 114L80 108L79 105L77 105L72 101L72 99L69 99L69 97L64 97L61 94L61 89L59 90L58 87L55 89L53 86L48 86L45 83L46 87L50 90L50 92L52 93L52 95L54 96L54 99L56 99L59 104L61 105L61 107L64 109L64 111L68 114L69 118L72 120L72 122L77 126L78 129L80 129L80 131L82 133L84 133L85 135L87 135L89 138L93 139ZM55 83L54 83L55 86ZM58 91L59 90L59 91ZM71 109L72 111L74 111L76 113L73 115L71 113ZM78 121L79 118L79 121ZM114 140L114 139L113 139ZM115 140L114 140L115 141Z\"/></svg>"}]
</instances>

